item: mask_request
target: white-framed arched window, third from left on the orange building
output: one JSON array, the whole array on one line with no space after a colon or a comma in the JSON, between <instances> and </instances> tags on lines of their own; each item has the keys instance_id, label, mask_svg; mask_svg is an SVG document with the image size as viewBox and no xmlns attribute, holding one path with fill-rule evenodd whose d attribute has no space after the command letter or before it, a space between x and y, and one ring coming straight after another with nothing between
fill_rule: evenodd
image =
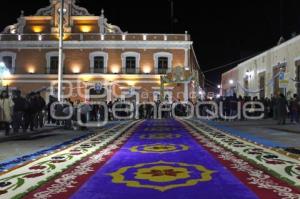
<instances>
[{"instance_id":1,"label":"white-framed arched window, third from left on the orange building","mask_svg":"<svg viewBox=\"0 0 300 199\"><path fill-rule=\"evenodd\" d=\"M106 73L108 63L108 54L106 52L93 52L90 54L91 73Z\"/></svg>"}]
</instances>

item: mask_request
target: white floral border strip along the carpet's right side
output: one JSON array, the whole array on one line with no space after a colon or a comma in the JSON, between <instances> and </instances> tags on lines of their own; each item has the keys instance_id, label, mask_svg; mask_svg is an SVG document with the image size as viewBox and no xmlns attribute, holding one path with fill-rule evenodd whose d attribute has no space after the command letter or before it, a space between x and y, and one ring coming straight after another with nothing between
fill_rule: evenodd
<instances>
[{"instance_id":1,"label":"white floral border strip along the carpet's right side","mask_svg":"<svg viewBox=\"0 0 300 199\"><path fill-rule=\"evenodd\" d=\"M189 121L189 123L227 150L265 168L274 176L300 187L300 160L285 156L271 148L258 146L256 143L231 136L200 121Z\"/></svg>"}]
</instances>

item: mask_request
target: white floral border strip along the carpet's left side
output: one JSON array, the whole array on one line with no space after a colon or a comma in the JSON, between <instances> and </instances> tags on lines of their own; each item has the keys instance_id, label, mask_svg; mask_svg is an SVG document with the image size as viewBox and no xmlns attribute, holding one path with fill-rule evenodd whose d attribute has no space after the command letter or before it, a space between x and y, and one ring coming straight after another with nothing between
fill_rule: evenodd
<instances>
[{"instance_id":1,"label":"white floral border strip along the carpet's left side","mask_svg":"<svg viewBox=\"0 0 300 199\"><path fill-rule=\"evenodd\" d=\"M86 156L105 148L132 125L117 125L89 139L0 173L0 198L21 198Z\"/></svg>"}]
</instances>

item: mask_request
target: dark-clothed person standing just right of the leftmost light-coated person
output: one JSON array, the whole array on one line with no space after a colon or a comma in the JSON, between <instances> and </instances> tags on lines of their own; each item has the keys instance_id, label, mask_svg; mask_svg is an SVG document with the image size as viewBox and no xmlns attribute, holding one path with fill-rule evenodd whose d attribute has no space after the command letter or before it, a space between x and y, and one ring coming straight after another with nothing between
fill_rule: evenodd
<instances>
[{"instance_id":1,"label":"dark-clothed person standing just right of the leftmost light-coated person","mask_svg":"<svg viewBox=\"0 0 300 199\"><path fill-rule=\"evenodd\" d=\"M14 133L18 133L22 127L23 131L26 131L23 117L25 112L28 111L28 103L25 98L21 96L21 91L16 90L13 95L14 111L13 111L13 122L12 127Z\"/></svg>"}]
</instances>

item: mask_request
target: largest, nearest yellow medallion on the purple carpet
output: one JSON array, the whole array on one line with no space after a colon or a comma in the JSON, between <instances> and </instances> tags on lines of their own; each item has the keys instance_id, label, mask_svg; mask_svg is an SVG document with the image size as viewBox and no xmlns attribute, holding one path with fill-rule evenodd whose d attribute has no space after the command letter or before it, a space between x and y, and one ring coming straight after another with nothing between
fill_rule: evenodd
<instances>
[{"instance_id":1,"label":"largest, nearest yellow medallion on the purple carpet","mask_svg":"<svg viewBox=\"0 0 300 199\"><path fill-rule=\"evenodd\" d=\"M164 192L210 181L214 172L202 165L159 161L123 167L110 175L113 183Z\"/></svg>"}]
</instances>

